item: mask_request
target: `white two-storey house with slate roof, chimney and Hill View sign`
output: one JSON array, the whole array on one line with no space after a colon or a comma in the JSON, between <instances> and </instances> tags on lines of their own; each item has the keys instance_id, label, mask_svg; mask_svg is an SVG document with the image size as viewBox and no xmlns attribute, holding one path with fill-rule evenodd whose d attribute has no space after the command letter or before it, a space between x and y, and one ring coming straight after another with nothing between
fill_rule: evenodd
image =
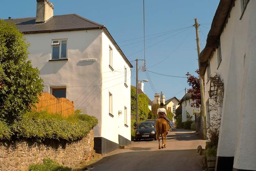
<instances>
[{"instance_id":1,"label":"white two-storey house with slate roof, chimney and Hill View sign","mask_svg":"<svg viewBox=\"0 0 256 171\"><path fill-rule=\"evenodd\" d=\"M44 91L98 118L97 153L131 143L132 65L105 26L77 14L53 16L48 0L37 0L36 17L5 21L30 42L29 59L40 70Z\"/></svg>"}]
</instances>

